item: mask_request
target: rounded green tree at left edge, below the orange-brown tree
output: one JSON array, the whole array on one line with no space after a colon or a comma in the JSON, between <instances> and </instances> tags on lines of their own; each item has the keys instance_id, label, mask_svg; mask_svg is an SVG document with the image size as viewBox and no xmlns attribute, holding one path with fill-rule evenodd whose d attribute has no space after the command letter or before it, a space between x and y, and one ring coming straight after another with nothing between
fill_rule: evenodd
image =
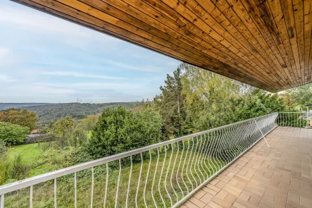
<instances>
[{"instance_id":1,"label":"rounded green tree at left edge, below the orange-brown tree","mask_svg":"<svg viewBox=\"0 0 312 208\"><path fill-rule=\"evenodd\" d=\"M24 142L30 129L12 123L0 122L0 140L13 145Z\"/></svg>"}]
</instances>

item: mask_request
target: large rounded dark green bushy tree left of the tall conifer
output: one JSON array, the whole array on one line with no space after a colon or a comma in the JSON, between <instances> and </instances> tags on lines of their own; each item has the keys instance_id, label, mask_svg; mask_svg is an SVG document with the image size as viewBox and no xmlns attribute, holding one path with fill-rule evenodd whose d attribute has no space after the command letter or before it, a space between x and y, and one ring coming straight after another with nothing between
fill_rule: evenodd
<instances>
[{"instance_id":1,"label":"large rounded dark green bushy tree left of the tall conifer","mask_svg":"<svg viewBox=\"0 0 312 208\"><path fill-rule=\"evenodd\" d=\"M151 145L159 141L160 128L159 116L152 111L135 115L120 106L105 109L94 126L87 152L99 158Z\"/></svg>"}]
</instances>

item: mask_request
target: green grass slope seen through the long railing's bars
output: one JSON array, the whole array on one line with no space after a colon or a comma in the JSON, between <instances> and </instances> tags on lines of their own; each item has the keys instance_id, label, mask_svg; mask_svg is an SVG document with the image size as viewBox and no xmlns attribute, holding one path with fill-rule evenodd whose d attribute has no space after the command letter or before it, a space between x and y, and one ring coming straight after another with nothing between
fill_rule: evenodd
<instances>
[{"instance_id":1,"label":"green grass slope seen through the long railing's bars","mask_svg":"<svg viewBox=\"0 0 312 208\"><path fill-rule=\"evenodd\" d=\"M136 207L136 204L138 207L144 207L144 203L147 207L155 207L154 203L157 207L165 207L164 204L170 207L225 165L223 161L212 157L204 159L199 153L190 149L189 151L168 149L167 152L162 151L158 159L157 152L152 151L151 159L147 154L143 162L139 155L133 156L132 167L129 157L122 160L118 198L116 198L118 162L111 162L108 171L106 207L115 207L116 202L117 207L125 207L126 202L128 207ZM77 207L90 207L91 173L91 169L77 173ZM104 207L106 176L106 165L94 167L93 207ZM58 207L74 207L74 184L74 174L57 179ZM6 195L5 207L29 207L29 200L30 188L25 188ZM54 207L54 181L34 186L33 203L34 207Z\"/></svg>"}]
</instances>

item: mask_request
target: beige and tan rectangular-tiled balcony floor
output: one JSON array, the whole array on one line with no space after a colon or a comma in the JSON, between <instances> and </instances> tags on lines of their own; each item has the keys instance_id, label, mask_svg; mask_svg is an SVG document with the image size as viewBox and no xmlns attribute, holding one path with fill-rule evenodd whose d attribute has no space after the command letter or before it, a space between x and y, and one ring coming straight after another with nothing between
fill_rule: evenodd
<instances>
[{"instance_id":1,"label":"beige and tan rectangular-tiled balcony floor","mask_svg":"<svg viewBox=\"0 0 312 208\"><path fill-rule=\"evenodd\" d=\"M277 127L182 208L312 207L312 129Z\"/></svg>"}]
</instances>

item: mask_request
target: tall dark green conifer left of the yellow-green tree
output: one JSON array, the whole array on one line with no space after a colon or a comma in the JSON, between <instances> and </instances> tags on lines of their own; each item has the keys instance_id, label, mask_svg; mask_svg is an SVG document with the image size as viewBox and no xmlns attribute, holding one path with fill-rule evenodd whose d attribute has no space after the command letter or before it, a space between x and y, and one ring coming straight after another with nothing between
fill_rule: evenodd
<instances>
[{"instance_id":1,"label":"tall dark green conifer left of the yellow-green tree","mask_svg":"<svg viewBox=\"0 0 312 208\"><path fill-rule=\"evenodd\" d=\"M165 85L160 87L161 94L154 98L156 108L160 110L165 122L166 136L182 135L185 122L185 97L182 94L182 71L177 68L173 76L167 74Z\"/></svg>"}]
</instances>

